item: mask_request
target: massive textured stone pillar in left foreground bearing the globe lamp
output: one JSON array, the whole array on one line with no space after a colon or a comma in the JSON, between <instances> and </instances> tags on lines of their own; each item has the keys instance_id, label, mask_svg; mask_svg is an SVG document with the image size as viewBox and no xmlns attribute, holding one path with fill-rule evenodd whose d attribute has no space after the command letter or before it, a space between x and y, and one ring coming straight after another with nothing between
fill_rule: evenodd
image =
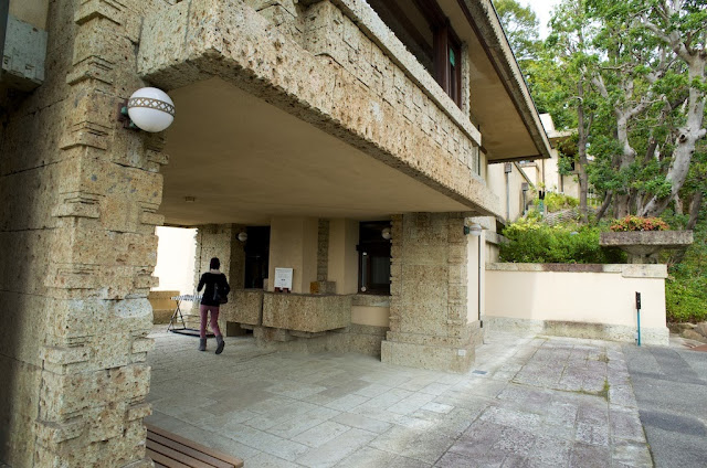
<instances>
[{"instance_id":1,"label":"massive textured stone pillar in left foreground bearing the globe lamp","mask_svg":"<svg viewBox=\"0 0 707 468\"><path fill-rule=\"evenodd\" d=\"M50 2L46 79L0 102L0 459L151 466L143 418L163 141L122 128L152 1ZM0 99L2 99L0 97Z\"/></svg>"}]
</instances>

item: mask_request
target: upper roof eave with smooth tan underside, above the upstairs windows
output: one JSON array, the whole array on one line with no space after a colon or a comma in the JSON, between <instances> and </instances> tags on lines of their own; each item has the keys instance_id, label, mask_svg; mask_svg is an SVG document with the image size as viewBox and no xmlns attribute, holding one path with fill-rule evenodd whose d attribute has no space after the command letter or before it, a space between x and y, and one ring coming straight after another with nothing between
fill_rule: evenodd
<instances>
[{"instance_id":1,"label":"upper roof eave with smooth tan underside, above the upstairs windows","mask_svg":"<svg viewBox=\"0 0 707 468\"><path fill-rule=\"evenodd\" d=\"M471 109L489 163L550 158L550 142L490 0L439 0L469 47Z\"/></svg>"}]
</instances>

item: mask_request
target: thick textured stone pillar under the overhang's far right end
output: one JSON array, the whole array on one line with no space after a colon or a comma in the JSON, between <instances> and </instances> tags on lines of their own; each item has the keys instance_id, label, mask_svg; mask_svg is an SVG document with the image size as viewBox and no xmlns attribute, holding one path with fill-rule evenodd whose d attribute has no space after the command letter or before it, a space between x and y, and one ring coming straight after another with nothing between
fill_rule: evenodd
<instances>
[{"instance_id":1,"label":"thick textured stone pillar under the overhang's far right end","mask_svg":"<svg viewBox=\"0 0 707 468\"><path fill-rule=\"evenodd\" d=\"M458 213L393 216L383 362L453 372L471 368L481 332L467 302L469 237Z\"/></svg>"}]
</instances>

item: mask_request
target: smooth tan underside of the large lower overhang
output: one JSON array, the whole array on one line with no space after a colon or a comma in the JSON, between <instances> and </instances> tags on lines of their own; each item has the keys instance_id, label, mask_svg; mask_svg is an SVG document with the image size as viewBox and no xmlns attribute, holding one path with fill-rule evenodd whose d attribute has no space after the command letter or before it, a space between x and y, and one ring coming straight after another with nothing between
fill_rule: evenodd
<instances>
[{"instance_id":1,"label":"smooth tan underside of the large lower overhang","mask_svg":"<svg viewBox=\"0 0 707 468\"><path fill-rule=\"evenodd\" d=\"M382 219L467 212L453 200L221 78L170 92L178 109L166 224L270 224L272 216ZM187 202L193 198L193 202Z\"/></svg>"}]
</instances>

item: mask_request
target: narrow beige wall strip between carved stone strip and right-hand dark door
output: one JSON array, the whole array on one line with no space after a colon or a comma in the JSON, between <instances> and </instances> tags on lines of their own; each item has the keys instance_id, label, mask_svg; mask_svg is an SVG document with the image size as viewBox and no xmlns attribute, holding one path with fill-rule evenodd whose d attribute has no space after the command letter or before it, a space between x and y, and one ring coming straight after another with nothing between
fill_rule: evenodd
<instances>
[{"instance_id":1,"label":"narrow beige wall strip between carved stone strip and right-hand dark door","mask_svg":"<svg viewBox=\"0 0 707 468\"><path fill-rule=\"evenodd\" d=\"M336 281L336 294L358 290L358 222L329 220L328 280Z\"/></svg>"}]
</instances>

